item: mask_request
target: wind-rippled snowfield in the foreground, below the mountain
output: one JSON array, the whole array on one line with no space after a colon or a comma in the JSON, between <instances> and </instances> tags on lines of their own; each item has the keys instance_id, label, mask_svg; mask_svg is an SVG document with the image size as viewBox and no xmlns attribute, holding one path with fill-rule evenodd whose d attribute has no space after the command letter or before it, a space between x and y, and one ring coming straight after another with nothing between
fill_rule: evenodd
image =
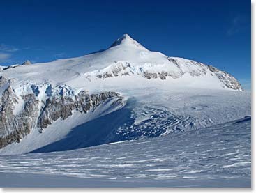
<instances>
[{"instance_id":1,"label":"wind-rippled snowfield in the foreground, below the mountain","mask_svg":"<svg viewBox=\"0 0 256 193\"><path fill-rule=\"evenodd\" d=\"M0 157L1 187L250 187L250 116L165 137Z\"/></svg>"}]
</instances>

